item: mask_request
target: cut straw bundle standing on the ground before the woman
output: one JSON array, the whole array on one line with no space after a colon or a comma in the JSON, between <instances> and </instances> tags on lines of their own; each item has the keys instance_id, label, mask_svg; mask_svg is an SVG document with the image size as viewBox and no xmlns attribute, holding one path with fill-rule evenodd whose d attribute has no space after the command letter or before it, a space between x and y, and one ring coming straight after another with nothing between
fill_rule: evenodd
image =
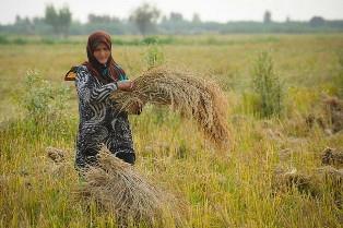
<instances>
[{"instance_id":1,"label":"cut straw bundle standing on the ground before the woman","mask_svg":"<svg viewBox=\"0 0 343 228\"><path fill-rule=\"evenodd\" d=\"M102 208L114 212L120 226L143 223L149 227L163 224L178 227L182 224L180 213L185 212L185 204L152 184L104 146L98 154L98 167L85 171L84 179L76 192L78 199L90 204L95 200Z\"/></svg>"}]
</instances>

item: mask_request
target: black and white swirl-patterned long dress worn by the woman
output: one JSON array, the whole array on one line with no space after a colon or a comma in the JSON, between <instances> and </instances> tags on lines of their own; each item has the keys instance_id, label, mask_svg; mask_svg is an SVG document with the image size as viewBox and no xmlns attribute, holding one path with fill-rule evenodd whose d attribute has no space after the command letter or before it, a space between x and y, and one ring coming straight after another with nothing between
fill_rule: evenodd
<instances>
[{"instance_id":1,"label":"black and white swirl-patterned long dress worn by the woman","mask_svg":"<svg viewBox=\"0 0 343 228\"><path fill-rule=\"evenodd\" d=\"M104 84L85 65L75 68L80 123L76 136L75 167L96 165L102 144L117 157L134 164L132 134L127 112L114 109L109 95L117 91L116 83ZM121 75L120 80L127 80Z\"/></svg>"}]
</instances>

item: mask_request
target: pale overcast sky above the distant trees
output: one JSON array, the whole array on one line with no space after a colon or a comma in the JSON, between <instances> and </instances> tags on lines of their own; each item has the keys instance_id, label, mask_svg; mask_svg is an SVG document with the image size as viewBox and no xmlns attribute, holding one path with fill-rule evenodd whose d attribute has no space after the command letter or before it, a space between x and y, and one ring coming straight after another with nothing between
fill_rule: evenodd
<instances>
[{"instance_id":1,"label":"pale overcast sky above the distant trees","mask_svg":"<svg viewBox=\"0 0 343 228\"><path fill-rule=\"evenodd\" d=\"M261 21L263 12L270 10L274 21L307 21L314 15L324 19L343 19L343 0L0 0L0 23L13 23L15 15L43 16L45 7L68 5L73 20L86 22L88 13L128 17L142 2L155 4L163 14L179 12L190 20L193 13L202 21Z\"/></svg>"}]
</instances>

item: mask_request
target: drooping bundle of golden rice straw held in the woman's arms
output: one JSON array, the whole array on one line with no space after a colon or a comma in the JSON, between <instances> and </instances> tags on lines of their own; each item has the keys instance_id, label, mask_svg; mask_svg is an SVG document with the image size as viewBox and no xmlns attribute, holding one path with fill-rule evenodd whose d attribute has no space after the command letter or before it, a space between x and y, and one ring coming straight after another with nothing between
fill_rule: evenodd
<instances>
[{"instance_id":1,"label":"drooping bundle of golden rice straw held in the woman's arms","mask_svg":"<svg viewBox=\"0 0 343 228\"><path fill-rule=\"evenodd\" d=\"M167 105L182 116L193 117L218 147L227 147L227 105L218 86L191 73L164 67L152 68L134 80L133 92L117 91L110 98L116 108L132 111L137 104Z\"/></svg>"}]
</instances>

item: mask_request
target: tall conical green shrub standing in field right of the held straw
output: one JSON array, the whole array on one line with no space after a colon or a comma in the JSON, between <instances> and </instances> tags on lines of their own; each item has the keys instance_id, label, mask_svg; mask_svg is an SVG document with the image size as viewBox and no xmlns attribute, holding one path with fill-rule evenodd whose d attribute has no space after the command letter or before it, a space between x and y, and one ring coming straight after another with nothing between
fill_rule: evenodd
<instances>
[{"instance_id":1,"label":"tall conical green shrub standing in field right of the held straw","mask_svg":"<svg viewBox=\"0 0 343 228\"><path fill-rule=\"evenodd\" d=\"M262 118L280 117L283 110L283 88L269 52L259 53L252 70L255 113Z\"/></svg>"}]
</instances>

